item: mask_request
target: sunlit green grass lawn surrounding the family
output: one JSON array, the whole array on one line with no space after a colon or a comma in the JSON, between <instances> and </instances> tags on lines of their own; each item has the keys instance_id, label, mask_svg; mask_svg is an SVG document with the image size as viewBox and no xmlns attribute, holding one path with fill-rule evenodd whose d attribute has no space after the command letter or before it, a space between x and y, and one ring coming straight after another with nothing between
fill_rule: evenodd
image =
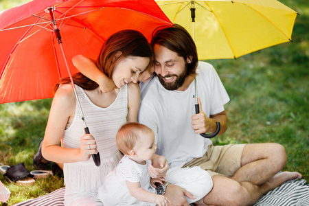
<instances>
[{"instance_id":1,"label":"sunlit green grass lawn surrounding the family","mask_svg":"<svg viewBox=\"0 0 309 206\"><path fill-rule=\"evenodd\" d=\"M293 43L276 45L237 60L209 60L218 71L231 102L227 133L214 144L277 142L286 148L284 170L298 171L309 181L309 5L308 0L282 0L297 16ZM25 1L0 1L0 10ZM45 133L52 100L0 104L0 165L24 162L34 170L33 156ZM63 187L63 179L49 176L24 187L8 187L12 205ZM1 203L0 203L1 204Z\"/></svg>"}]
</instances>

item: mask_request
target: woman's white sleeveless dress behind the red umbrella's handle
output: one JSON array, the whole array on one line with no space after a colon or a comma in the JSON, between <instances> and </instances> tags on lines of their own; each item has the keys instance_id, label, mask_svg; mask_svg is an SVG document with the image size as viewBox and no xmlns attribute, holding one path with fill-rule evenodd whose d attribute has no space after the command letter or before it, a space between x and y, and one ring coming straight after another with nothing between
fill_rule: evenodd
<instances>
[{"instance_id":1,"label":"woman's white sleeveless dress behind the red umbrella's handle","mask_svg":"<svg viewBox=\"0 0 309 206\"><path fill-rule=\"evenodd\" d=\"M116 133L126 123L128 115L127 86L122 87L115 101L106 108L96 106L89 100L83 89L76 85L82 111L91 135L100 152L101 165L97 167L93 159L77 163L64 164L65 205L73 205L70 201L89 199L93 201L98 194L98 187L104 183L104 177L113 170L122 158L116 146ZM80 148L80 137L84 135L84 123L76 104L76 114L71 126L65 130L62 144L65 148ZM84 204L87 204L84 202ZM102 205L102 203L101 203Z\"/></svg>"}]
</instances>

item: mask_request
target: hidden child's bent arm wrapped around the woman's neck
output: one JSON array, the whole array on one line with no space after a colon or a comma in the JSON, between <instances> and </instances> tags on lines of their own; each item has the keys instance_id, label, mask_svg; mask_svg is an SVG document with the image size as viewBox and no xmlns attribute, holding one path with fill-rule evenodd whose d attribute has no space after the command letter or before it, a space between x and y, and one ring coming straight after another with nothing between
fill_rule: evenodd
<instances>
[{"instance_id":1,"label":"hidden child's bent arm wrapped around the woman's neck","mask_svg":"<svg viewBox=\"0 0 309 206\"><path fill-rule=\"evenodd\" d=\"M72 62L80 73L94 82L97 82L102 92L106 93L113 89L117 89L113 80L100 71L93 60L79 54L72 58Z\"/></svg>"}]
</instances>

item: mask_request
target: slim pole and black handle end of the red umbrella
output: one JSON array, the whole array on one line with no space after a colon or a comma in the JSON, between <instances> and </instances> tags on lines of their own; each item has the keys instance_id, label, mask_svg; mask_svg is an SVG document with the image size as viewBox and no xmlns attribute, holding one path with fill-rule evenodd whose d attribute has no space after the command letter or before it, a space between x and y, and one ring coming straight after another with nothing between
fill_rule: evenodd
<instances>
[{"instance_id":1,"label":"slim pole and black handle end of the red umbrella","mask_svg":"<svg viewBox=\"0 0 309 206\"><path fill-rule=\"evenodd\" d=\"M65 51L64 51L64 49L62 47L60 30L58 29L58 27L56 25L56 20L55 20L55 17L54 17L54 8L48 8L48 11L49 11L49 14L50 14L51 19L52 19L54 33L56 34L56 38L58 39L58 43L59 43L59 46L60 46L60 49L61 49L61 52L62 52L62 56L63 56L63 58L65 60L65 66L67 67L67 72L69 73L69 78L71 80L71 85L72 85L74 94L76 96L76 101L78 102L78 108L80 109L80 114L82 115L82 122L84 122L84 132L86 134L90 134L89 128L88 128L87 123L86 123L86 120L84 119L84 113L82 112L82 105L80 105L80 99L78 98L78 93L76 92L76 88L75 88L75 84L74 84L74 81L73 81L73 78L72 78L72 75L71 75L71 71L69 69L69 65L67 64L67 58L65 56ZM101 160L100 160L99 152L97 154L93 154L91 156L93 158L93 161L94 161L95 165L100 166Z\"/></svg>"}]
</instances>

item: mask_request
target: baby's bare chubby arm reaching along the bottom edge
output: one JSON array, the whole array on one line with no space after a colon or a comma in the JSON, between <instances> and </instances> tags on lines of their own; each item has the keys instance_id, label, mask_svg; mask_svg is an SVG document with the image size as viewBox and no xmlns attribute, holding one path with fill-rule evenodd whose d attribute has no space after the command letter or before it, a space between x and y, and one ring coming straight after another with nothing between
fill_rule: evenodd
<instances>
[{"instance_id":1,"label":"baby's bare chubby arm reaching along the bottom edge","mask_svg":"<svg viewBox=\"0 0 309 206\"><path fill-rule=\"evenodd\" d=\"M141 188L141 184L139 182L131 183L130 181L126 181L126 185L128 186L130 194L139 201L157 203L157 205L168 205L168 198L163 195L154 194L144 190Z\"/></svg>"}]
</instances>

